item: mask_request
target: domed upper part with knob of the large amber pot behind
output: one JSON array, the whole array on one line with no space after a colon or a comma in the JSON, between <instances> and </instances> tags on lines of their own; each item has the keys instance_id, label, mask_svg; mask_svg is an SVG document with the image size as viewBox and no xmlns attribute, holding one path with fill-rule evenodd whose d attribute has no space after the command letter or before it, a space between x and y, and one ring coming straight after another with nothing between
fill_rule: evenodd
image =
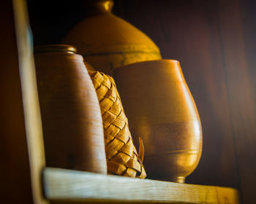
<instances>
[{"instance_id":1,"label":"domed upper part with knob of the large amber pot behind","mask_svg":"<svg viewBox=\"0 0 256 204\"><path fill-rule=\"evenodd\" d=\"M94 1L97 12L78 23L64 43L74 44L82 55L109 52L157 52L159 48L138 28L111 13L113 1ZM94 10L94 9L92 9Z\"/></svg>"}]
</instances>

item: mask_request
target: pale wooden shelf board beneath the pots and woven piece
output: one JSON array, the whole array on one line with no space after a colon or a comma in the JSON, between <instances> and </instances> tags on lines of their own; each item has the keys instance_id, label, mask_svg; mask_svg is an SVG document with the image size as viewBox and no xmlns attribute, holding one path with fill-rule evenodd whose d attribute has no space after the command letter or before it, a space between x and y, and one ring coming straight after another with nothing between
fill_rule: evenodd
<instances>
[{"instance_id":1,"label":"pale wooden shelf board beneath the pots and woven piece","mask_svg":"<svg viewBox=\"0 0 256 204\"><path fill-rule=\"evenodd\" d=\"M43 170L45 197L84 203L218 203L238 204L238 191L227 187L106 176L59 168Z\"/></svg>"}]
</instances>

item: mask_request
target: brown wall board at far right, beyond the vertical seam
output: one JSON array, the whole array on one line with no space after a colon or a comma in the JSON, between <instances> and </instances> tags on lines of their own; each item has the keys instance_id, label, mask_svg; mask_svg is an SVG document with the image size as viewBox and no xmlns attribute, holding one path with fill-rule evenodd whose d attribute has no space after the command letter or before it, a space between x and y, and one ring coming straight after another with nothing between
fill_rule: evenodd
<instances>
[{"instance_id":1,"label":"brown wall board at far right, beyond the vertical seam","mask_svg":"<svg viewBox=\"0 0 256 204\"><path fill-rule=\"evenodd\" d=\"M247 58L248 55L252 55L252 52L246 50L250 47L248 47L249 44L246 47L244 42L244 36L247 33L243 27L241 2L219 1L219 22L241 196L243 203L255 203L256 84L255 75L253 75L255 67L250 66L251 61Z\"/></svg>"}]
</instances>

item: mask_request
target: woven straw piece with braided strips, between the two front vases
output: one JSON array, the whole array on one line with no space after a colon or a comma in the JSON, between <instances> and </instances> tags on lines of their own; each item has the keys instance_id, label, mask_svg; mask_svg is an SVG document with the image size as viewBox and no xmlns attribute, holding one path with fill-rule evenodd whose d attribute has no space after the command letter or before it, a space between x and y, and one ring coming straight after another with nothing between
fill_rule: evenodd
<instances>
[{"instance_id":1,"label":"woven straw piece with braided strips, between the two front vases","mask_svg":"<svg viewBox=\"0 0 256 204\"><path fill-rule=\"evenodd\" d=\"M102 112L108 173L145 178L146 172L142 164L143 144L140 140L138 154L113 78L98 71L89 71L89 75Z\"/></svg>"}]
</instances>

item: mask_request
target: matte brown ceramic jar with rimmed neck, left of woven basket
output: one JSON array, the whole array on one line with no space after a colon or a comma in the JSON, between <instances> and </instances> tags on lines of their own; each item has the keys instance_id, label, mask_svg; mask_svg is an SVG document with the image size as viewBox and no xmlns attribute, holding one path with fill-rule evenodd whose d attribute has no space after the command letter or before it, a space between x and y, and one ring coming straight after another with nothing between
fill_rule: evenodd
<instances>
[{"instance_id":1,"label":"matte brown ceramic jar with rimmed neck, left of woven basket","mask_svg":"<svg viewBox=\"0 0 256 204\"><path fill-rule=\"evenodd\" d=\"M67 45L35 49L46 164L107 173L97 94L75 51Z\"/></svg>"}]
</instances>

